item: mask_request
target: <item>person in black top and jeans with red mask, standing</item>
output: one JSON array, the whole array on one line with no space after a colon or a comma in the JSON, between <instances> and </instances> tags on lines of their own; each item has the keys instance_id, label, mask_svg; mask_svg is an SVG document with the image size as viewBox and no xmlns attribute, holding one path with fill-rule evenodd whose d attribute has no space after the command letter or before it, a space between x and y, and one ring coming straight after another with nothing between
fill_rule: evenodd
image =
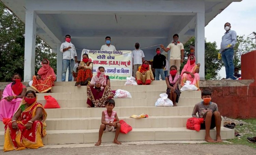
<instances>
[{"instance_id":1,"label":"person in black top and jeans with red mask, standing","mask_svg":"<svg viewBox=\"0 0 256 155\"><path fill-rule=\"evenodd\" d=\"M153 70L155 71L156 80L159 80L159 75L161 75L162 80L165 80L165 73L163 69L165 68L166 57L161 54L160 48L156 49L156 56L153 59Z\"/></svg>"}]
</instances>

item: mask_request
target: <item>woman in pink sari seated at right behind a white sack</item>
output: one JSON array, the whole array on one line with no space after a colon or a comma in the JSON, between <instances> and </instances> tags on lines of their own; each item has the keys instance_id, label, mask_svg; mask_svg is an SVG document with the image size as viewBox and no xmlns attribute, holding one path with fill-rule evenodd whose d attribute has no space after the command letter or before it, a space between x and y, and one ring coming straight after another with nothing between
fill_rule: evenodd
<instances>
[{"instance_id":1,"label":"woman in pink sari seated at right behind a white sack","mask_svg":"<svg viewBox=\"0 0 256 155\"><path fill-rule=\"evenodd\" d=\"M191 84L194 84L198 90L199 89L199 81L200 81L200 76L199 76L199 68L200 68L200 63L196 65L196 58L193 55L190 55L188 57L188 61L185 64L185 66L182 69L181 72L181 86L184 86L184 83L189 80Z\"/></svg>"}]
</instances>

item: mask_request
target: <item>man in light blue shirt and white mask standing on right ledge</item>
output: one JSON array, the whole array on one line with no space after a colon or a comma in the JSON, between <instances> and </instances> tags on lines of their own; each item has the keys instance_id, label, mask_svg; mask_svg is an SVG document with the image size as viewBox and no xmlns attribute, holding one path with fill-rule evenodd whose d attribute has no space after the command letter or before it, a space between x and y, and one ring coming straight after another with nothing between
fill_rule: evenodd
<instances>
[{"instance_id":1,"label":"man in light blue shirt and white mask standing on right ledge","mask_svg":"<svg viewBox=\"0 0 256 155\"><path fill-rule=\"evenodd\" d=\"M230 30L231 25L227 22L224 25L224 29L226 32L222 36L221 41L221 58L223 60L225 69L226 69L226 79L227 80L235 80L236 78L234 75L234 63L233 63L233 56L234 56L234 45L237 43L237 33L236 31Z\"/></svg>"}]
</instances>

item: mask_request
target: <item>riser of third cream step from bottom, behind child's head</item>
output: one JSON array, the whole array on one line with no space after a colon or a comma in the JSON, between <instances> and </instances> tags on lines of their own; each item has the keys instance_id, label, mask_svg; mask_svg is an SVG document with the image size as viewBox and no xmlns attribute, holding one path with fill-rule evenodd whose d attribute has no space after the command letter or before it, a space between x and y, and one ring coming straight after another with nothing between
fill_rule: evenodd
<instances>
[{"instance_id":1,"label":"riser of third cream step from bottom, behind child's head","mask_svg":"<svg viewBox=\"0 0 256 155\"><path fill-rule=\"evenodd\" d=\"M118 117L129 117L133 114L142 113L148 116L182 116L191 115L194 106L177 106L177 107L115 107ZM47 118L83 118L83 117L100 117L106 108L57 108L46 109Z\"/></svg>"}]
</instances>

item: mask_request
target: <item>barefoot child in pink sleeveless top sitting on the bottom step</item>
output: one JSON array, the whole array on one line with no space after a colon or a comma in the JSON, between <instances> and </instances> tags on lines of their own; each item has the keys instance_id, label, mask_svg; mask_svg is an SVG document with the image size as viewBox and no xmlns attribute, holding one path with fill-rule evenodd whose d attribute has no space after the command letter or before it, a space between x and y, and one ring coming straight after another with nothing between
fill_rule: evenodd
<instances>
[{"instance_id":1,"label":"barefoot child in pink sleeveless top sitting on the bottom step","mask_svg":"<svg viewBox=\"0 0 256 155\"><path fill-rule=\"evenodd\" d=\"M113 99L108 99L106 100L105 105L106 105L106 110L102 111L101 125L99 130L99 140L95 144L95 146L99 146L101 144L101 137L103 132L108 132L108 131L112 131L112 132L115 131L115 138L113 143L121 144L121 142L117 140L118 135L120 133L121 125L119 123L119 119L117 117L116 111L113 111L113 108L115 107L115 101Z\"/></svg>"}]
</instances>

